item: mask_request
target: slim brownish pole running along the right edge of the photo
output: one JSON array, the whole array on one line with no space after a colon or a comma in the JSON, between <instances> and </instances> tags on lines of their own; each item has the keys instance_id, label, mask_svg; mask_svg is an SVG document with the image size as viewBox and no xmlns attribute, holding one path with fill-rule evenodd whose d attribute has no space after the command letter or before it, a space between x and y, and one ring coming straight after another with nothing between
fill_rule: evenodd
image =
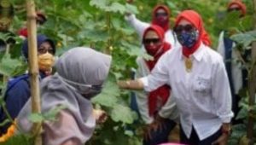
<instances>
[{"instance_id":1,"label":"slim brownish pole running along the right edge of the photo","mask_svg":"<svg viewBox=\"0 0 256 145\"><path fill-rule=\"evenodd\" d=\"M256 30L256 0L253 0L253 22L254 30ZM255 103L255 92L256 92L256 42L252 45L252 70L249 73L249 115L248 115L248 125L247 125L247 138L249 139L249 145L253 145L253 110L251 109Z\"/></svg>"}]
</instances>

